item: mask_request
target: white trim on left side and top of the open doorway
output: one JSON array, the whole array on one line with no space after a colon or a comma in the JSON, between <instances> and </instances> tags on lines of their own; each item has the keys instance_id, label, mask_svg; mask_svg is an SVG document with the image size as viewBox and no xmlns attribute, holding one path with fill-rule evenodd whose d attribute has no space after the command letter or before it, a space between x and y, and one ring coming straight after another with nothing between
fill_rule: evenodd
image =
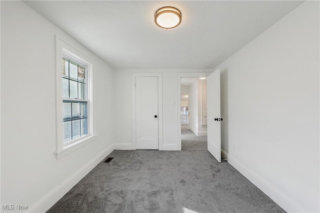
<instances>
[{"instance_id":1,"label":"white trim on left side and top of the open doorway","mask_svg":"<svg viewBox=\"0 0 320 213\"><path fill-rule=\"evenodd\" d=\"M213 72L213 71L212 71ZM206 77L212 72L178 72L177 73L177 126L178 126L178 150L181 150L181 122L180 122L180 108L181 108L181 77Z\"/></svg>"}]
</instances>

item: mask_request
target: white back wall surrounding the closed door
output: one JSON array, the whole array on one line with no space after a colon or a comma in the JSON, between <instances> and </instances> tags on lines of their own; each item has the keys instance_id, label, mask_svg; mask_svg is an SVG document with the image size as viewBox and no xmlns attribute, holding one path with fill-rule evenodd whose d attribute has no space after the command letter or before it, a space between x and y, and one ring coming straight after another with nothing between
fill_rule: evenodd
<instances>
[{"instance_id":1,"label":"white back wall surrounding the closed door","mask_svg":"<svg viewBox=\"0 0 320 213\"><path fill-rule=\"evenodd\" d=\"M212 72L213 69L115 69L114 133L116 148L131 149L131 72L162 73L163 149L178 149L177 73ZM179 94L180 95L180 94ZM174 101L174 105L172 105ZM180 125L180 124L179 124ZM180 134L180 133L179 133Z\"/></svg>"}]
</instances>

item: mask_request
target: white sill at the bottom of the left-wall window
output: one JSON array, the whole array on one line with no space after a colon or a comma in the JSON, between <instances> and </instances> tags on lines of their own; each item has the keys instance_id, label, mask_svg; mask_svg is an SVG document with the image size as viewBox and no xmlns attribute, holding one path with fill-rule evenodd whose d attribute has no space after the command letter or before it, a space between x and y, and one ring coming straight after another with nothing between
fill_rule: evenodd
<instances>
[{"instance_id":1,"label":"white sill at the bottom of the left-wall window","mask_svg":"<svg viewBox=\"0 0 320 213\"><path fill-rule=\"evenodd\" d=\"M54 151L53 154L55 155L55 158L58 160L61 157L64 157L64 156L70 154L71 152L81 148L82 146L86 145L87 143L91 142L92 140L95 139L96 135L97 134L89 135L89 136L81 138L77 141L74 141L70 144L65 144L62 147L62 149Z\"/></svg>"}]
</instances>

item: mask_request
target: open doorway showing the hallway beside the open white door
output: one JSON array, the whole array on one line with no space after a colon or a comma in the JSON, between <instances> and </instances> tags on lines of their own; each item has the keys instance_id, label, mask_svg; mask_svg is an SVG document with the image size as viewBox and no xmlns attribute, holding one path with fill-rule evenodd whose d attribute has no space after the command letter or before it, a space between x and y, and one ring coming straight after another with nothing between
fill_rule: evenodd
<instances>
[{"instance_id":1,"label":"open doorway showing the hallway beside the open white door","mask_svg":"<svg viewBox=\"0 0 320 213\"><path fill-rule=\"evenodd\" d=\"M177 74L179 150L206 150L206 114L203 109L201 110L201 99L203 100L201 87L206 80L199 77L205 78L208 74L210 72Z\"/></svg>"}]
</instances>

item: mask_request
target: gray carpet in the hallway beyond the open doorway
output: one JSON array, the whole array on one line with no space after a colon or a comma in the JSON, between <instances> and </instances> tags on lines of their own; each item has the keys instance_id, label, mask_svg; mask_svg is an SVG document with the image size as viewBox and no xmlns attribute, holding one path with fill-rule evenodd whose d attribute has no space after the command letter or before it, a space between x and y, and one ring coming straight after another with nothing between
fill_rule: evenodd
<instances>
[{"instance_id":1,"label":"gray carpet in the hallway beyond the open doorway","mask_svg":"<svg viewBox=\"0 0 320 213\"><path fill-rule=\"evenodd\" d=\"M181 150L207 150L207 137L196 136L190 129L181 129Z\"/></svg>"}]
</instances>

